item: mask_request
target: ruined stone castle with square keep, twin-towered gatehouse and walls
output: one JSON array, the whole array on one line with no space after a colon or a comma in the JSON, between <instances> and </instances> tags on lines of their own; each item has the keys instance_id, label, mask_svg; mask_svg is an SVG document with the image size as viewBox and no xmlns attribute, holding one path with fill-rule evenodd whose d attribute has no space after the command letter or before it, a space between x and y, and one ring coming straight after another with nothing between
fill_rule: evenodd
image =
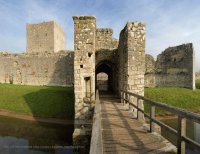
<instances>
[{"instance_id":1,"label":"ruined stone castle with square keep, twin-towered gatehouse and walls","mask_svg":"<svg viewBox=\"0 0 200 154\"><path fill-rule=\"evenodd\" d=\"M191 43L169 47L155 61L145 55L145 25L128 22L119 40L110 28L97 28L94 16L74 16L74 51L55 22L27 24L27 51L0 53L0 83L74 86L75 117L84 119L95 100L97 75L107 74L107 89L144 95L144 87L194 89Z\"/></svg>"}]
</instances>

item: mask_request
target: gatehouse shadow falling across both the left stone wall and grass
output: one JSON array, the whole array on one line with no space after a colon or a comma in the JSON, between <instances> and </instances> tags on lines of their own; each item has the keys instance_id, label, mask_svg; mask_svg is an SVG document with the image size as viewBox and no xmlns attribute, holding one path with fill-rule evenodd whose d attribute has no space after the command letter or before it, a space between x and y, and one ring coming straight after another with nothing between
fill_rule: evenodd
<instances>
[{"instance_id":1,"label":"gatehouse shadow falling across both the left stone wall and grass","mask_svg":"<svg viewBox=\"0 0 200 154\"><path fill-rule=\"evenodd\" d=\"M23 96L35 118L74 120L73 59L74 52L66 56L56 54L49 86Z\"/></svg>"}]
</instances>

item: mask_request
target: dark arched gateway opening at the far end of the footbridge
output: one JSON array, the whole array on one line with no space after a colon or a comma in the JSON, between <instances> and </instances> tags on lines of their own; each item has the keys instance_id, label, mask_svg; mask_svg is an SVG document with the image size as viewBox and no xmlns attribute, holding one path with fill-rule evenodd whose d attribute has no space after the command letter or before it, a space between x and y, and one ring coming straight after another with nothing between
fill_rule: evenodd
<instances>
[{"instance_id":1,"label":"dark arched gateway opening at the far end of the footbridge","mask_svg":"<svg viewBox=\"0 0 200 154\"><path fill-rule=\"evenodd\" d=\"M114 66L109 61L101 61L96 65L96 88L99 91L114 91Z\"/></svg>"}]
</instances>

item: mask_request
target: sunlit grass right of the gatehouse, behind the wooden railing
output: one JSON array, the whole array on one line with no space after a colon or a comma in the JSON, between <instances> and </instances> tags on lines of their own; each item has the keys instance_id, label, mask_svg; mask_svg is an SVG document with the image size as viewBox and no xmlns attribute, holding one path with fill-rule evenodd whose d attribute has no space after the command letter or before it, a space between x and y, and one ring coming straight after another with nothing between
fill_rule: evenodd
<instances>
[{"instance_id":1,"label":"sunlit grass right of the gatehouse, behind the wooden railing","mask_svg":"<svg viewBox=\"0 0 200 154\"><path fill-rule=\"evenodd\" d=\"M196 88L196 90L178 87L145 88L145 97L187 111L200 113L200 80L196 81ZM149 112L149 106L146 104L145 111ZM156 108L156 114L160 116L171 115L171 113L159 108Z\"/></svg>"}]
</instances>

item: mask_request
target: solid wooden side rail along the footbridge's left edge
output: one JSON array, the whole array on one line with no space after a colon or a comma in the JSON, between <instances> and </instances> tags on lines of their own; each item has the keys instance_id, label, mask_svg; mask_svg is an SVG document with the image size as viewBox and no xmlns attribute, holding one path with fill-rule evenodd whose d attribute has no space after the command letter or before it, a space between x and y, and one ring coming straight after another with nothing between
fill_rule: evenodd
<instances>
[{"instance_id":1,"label":"solid wooden side rail along the footbridge's left edge","mask_svg":"<svg viewBox=\"0 0 200 154\"><path fill-rule=\"evenodd\" d=\"M102 133L101 133L101 105L99 101L99 92L96 91L96 101L93 116L92 136L90 142L90 154L102 154Z\"/></svg>"}]
</instances>

